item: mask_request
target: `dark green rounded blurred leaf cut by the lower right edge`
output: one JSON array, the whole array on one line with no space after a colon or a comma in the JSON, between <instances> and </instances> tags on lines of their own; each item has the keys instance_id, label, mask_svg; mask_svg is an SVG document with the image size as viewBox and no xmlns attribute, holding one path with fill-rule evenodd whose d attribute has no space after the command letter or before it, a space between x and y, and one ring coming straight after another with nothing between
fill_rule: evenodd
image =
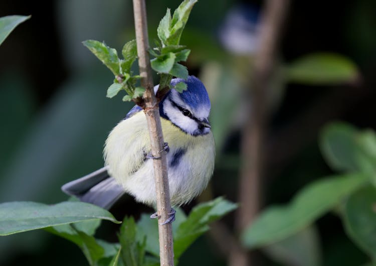
<instances>
[{"instance_id":1,"label":"dark green rounded blurred leaf cut by the lower right edge","mask_svg":"<svg viewBox=\"0 0 376 266\"><path fill-rule=\"evenodd\" d=\"M376 259L376 188L366 186L346 201L343 221L347 235Z\"/></svg>"}]
</instances>

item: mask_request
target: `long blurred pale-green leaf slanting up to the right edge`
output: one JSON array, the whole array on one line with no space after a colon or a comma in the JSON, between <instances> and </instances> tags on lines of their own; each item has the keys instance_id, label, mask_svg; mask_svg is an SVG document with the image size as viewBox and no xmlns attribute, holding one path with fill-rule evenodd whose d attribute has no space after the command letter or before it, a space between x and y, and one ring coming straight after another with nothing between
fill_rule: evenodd
<instances>
[{"instance_id":1,"label":"long blurred pale-green leaf slanting up to the right edge","mask_svg":"<svg viewBox=\"0 0 376 266\"><path fill-rule=\"evenodd\" d=\"M263 211L243 232L244 245L261 247L293 235L334 208L369 178L366 174L347 174L309 184L288 205Z\"/></svg>"}]
</instances>

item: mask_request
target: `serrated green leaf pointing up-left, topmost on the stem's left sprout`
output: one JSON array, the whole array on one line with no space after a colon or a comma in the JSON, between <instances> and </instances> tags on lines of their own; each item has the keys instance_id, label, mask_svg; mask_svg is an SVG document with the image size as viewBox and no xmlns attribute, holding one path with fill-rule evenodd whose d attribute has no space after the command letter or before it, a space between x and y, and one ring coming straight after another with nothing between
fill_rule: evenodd
<instances>
[{"instance_id":1,"label":"serrated green leaf pointing up-left, topmost on the stem's left sprout","mask_svg":"<svg viewBox=\"0 0 376 266\"><path fill-rule=\"evenodd\" d=\"M82 42L103 64L108 67L112 73L117 76L120 73L120 59L115 49L108 47L105 43L95 40L86 40Z\"/></svg>"}]
</instances>

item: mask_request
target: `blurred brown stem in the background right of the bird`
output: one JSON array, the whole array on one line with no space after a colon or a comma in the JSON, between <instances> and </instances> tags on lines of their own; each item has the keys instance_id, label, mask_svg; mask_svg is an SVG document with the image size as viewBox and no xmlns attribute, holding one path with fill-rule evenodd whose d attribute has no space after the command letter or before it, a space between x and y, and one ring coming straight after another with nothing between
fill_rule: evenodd
<instances>
[{"instance_id":1,"label":"blurred brown stem in the background right of the bird","mask_svg":"<svg viewBox=\"0 0 376 266\"><path fill-rule=\"evenodd\" d=\"M264 135L267 124L267 97L279 32L287 12L289 0L268 0L261 17L259 50L255 57L253 80L248 91L250 114L242 132L241 178L239 183L240 208L237 212L236 229L243 231L255 218L260 208L261 175L264 166ZM230 265L245 266L251 261L246 252L234 249Z\"/></svg>"}]
</instances>

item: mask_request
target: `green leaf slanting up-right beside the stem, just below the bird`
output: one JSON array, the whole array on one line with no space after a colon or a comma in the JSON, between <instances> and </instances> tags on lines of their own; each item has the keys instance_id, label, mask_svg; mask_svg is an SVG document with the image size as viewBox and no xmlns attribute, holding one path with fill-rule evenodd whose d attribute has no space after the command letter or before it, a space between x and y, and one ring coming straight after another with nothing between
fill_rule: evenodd
<instances>
[{"instance_id":1,"label":"green leaf slanting up-right beside the stem, just below the bird","mask_svg":"<svg viewBox=\"0 0 376 266\"><path fill-rule=\"evenodd\" d=\"M186 220L181 222L173 234L175 258L178 259L200 235L209 230L209 223L235 210L237 206L237 204L219 197L193 208Z\"/></svg>"}]
</instances>

